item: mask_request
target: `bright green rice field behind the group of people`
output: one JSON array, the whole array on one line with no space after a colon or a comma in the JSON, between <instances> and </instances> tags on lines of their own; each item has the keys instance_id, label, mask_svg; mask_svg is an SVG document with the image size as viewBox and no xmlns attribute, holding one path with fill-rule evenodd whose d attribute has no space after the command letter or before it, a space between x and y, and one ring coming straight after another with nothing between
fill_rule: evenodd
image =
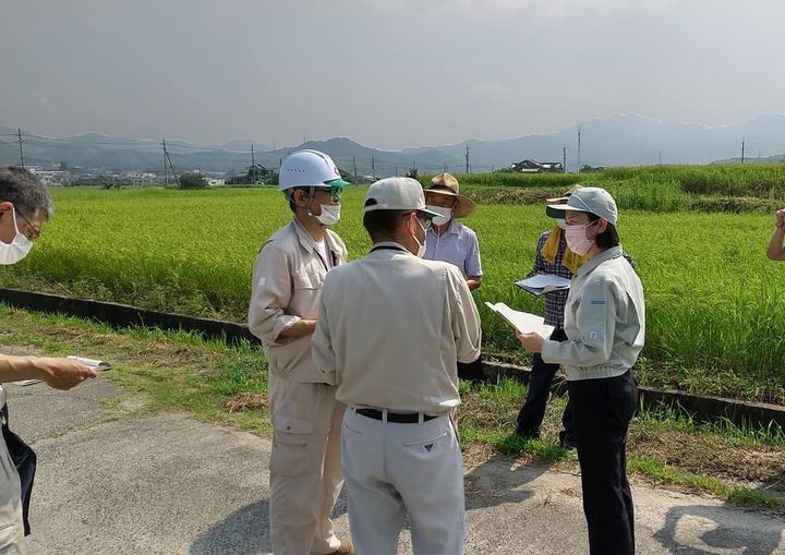
<instances>
[{"instance_id":1,"label":"bright green rice field behind the group of people","mask_svg":"<svg viewBox=\"0 0 785 555\"><path fill-rule=\"evenodd\" d=\"M542 311L541 300L512 283L530 270L536 239L553 220L538 195L516 192L546 194L580 181L607 186L619 201L621 242L637 263L647 299L640 381L783 402L785 264L766 260L765 246L774 224L770 208L785 192L785 169L705 168L709 177L700 183L695 176L701 169L659 171L461 179L480 201L466 224L480 238L485 277L475 300L486 353L526 359L511 328L484 301ZM733 184L734 171L749 195L739 196L745 191ZM363 195L362 188L345 193L334 228L352 258L370 248L361 224ZM245 319L256 251L291 217L270 188L59 189L53 196L55 218L27 260L0 270L0 285L239 322ZM708 208L699 208L700 200ZM727 205L728 212L716 212Z\"/></svg>"}]
</instances>

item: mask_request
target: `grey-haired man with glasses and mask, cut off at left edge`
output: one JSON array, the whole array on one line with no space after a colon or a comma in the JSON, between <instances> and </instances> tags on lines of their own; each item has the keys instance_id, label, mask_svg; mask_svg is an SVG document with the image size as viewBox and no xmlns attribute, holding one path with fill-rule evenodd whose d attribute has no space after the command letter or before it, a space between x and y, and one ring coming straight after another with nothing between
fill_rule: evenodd
<instances>
[{"instance_id":1,"label":"grey-haired man with glasses and mask, cut off at left edge","mask_svg":"<svg viewBox=\"0 0 785 555\"><path fill-rule=\"evenodd\" d=\"M27 256L41 226L52 215L49 192L29 171L0 167L0 265ZM43 379L55 389L71 389L95 371L71 359L0 354L0 383ZM27 509L35 474L35 453L9 430L5 390L0 386L0 553L26 553Z\"/></svg>"}]
</instances>

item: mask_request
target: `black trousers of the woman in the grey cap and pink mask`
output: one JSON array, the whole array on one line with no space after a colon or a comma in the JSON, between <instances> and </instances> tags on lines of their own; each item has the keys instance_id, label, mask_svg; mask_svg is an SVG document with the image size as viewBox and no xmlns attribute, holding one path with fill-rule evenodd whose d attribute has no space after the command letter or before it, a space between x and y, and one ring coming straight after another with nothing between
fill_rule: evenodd
<instances>
[{"instance_id":1,"label":"black trousers of the woman in the grey cap and pink mask","mask_svg":"<svg viewBox=\"0 0 785 555\"><path fill-rule=\"evenodd\" d=\"M569 382L575 434L594 555L635 553L632 495L627 481L627 430L638 402L631 371Z\"/></svg>"}]
</instances>

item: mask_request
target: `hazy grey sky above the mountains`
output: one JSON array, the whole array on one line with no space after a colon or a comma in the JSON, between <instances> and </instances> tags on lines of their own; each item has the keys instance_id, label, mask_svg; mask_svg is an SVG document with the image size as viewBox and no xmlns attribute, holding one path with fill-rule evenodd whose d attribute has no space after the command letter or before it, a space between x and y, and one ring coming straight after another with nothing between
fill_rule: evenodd
<instances>
[{"instance_id":1,"label":"hazy grey sky above the mountains","mask_svg":"<svg viewBox=\"0 0 785 555\"><path fill-rule=\"evenodd\" d=\"M2 0L0 123L379 148L785 112L782 0Z\"/></svg>"}]
</instances>

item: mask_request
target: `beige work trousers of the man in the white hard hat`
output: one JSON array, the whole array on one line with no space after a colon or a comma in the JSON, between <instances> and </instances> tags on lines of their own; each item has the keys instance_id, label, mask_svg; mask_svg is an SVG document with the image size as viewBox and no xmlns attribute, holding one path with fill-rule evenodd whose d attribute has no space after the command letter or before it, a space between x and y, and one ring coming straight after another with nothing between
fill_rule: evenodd
<instances>
[{"instance_id":1,"label":"beige work trousers of the man in the white hard hat","mask_svg":"<svg viewBox=\"0 0 785 555\"><path fill-rule=\"evenodd\" d=\"M340 540L329 516L343 483L340 432L346 406L335 386L270 373L273 421L269 522L276 555L324 555Z\"/></svg>"}]
</instances>

